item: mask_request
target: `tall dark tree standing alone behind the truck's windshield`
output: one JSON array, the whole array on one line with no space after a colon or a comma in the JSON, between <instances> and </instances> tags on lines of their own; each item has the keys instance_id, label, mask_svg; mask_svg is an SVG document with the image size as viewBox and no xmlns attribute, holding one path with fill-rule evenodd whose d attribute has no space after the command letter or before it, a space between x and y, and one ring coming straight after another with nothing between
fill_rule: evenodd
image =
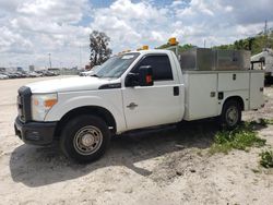
<instances>
[{"instance_id":1,"label":"tall dark tree standing alone behind the truck's windshield","mask_svg":"<svg viewBox=\"0 0 273 205\"><path fill-rule=\"evenodd\" d=\"M93 31L90 35L91 67L102 64L110 58L111 49L108 48L110 38L103 32Z\"/></svg>"}]
</instances>

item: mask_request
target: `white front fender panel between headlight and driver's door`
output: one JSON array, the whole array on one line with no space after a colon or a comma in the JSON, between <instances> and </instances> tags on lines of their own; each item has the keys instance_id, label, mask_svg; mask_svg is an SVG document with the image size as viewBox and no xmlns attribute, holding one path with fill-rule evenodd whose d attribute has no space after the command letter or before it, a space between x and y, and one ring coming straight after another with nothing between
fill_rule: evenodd
<instances>
[{"instance_id":1,"label":"white front fender panel between headlight and driver's door","mask_svg":"<svg viewBox=\"0 0 273 205\"><path fill-rule=\"evenodd\" d=\"M84 107L97 106L107 109L115 118L117 132L126 130L121 92L72 92L58 94L56 104L45 117L45 121L59 121L69 111Z\"/></svg>"}]
</instances>

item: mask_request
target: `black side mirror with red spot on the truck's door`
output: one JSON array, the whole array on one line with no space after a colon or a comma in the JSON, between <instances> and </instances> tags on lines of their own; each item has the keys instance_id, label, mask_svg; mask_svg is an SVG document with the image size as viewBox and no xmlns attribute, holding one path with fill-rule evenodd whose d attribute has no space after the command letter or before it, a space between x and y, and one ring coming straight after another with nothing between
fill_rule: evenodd
<instances>
[{"instance_id":1,"label":"black side mirror with red spot on the truck's door","mask_svg":"<svg viewBox=\"0 0 273 205\"><path fill-rule=\"evenodd\" d=\"M151 65L142 65L139 69L139 85L140 86L152 86L153 81L153 69Z\"/></svg>"}]
</instances>

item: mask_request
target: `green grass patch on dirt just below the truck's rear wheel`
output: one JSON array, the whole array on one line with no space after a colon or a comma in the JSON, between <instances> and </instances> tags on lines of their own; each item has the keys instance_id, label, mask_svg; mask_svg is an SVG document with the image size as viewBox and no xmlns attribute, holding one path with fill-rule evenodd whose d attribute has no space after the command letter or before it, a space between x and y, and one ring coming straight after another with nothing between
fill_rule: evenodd
<instances>
[{"instance_id":1,"label":"green grass patch on dirt just below the truck's rear wheel","mask_svg":"<svg viewBox=\"0 0 273 205\"><path fill-rule=\"evenodd\" d=\"M232 149L247 152L250 147L261 147L265 145L265 140L258 136L252 122L245 122L233 131L217 132L209 152L211 154L227 154Z\"/></svg>"}]
</instances>

